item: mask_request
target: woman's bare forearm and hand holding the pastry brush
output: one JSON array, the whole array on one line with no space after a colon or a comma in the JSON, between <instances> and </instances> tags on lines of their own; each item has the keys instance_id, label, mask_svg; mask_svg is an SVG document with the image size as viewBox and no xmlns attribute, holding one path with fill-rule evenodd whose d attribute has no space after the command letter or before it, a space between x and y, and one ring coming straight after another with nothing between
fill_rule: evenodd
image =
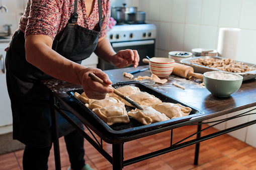
<instances>
[{"instance_id":1,"label":"woman's bare forearm and hand holding the pastry brush","mask_svg":"<svg viewBox=\"0 0 256 170\"><path fill-rule=\"evenodd\" d=\"M25 41L26 60L44 73L70 83L82 85L88 97L103 99L113 89L92 81L88 74L94 73L107 84L112 84L108 75L100 69L88 68L72 62L54 50L52 39L45 35L29 35Z\"/></svg>"}]
</instances>

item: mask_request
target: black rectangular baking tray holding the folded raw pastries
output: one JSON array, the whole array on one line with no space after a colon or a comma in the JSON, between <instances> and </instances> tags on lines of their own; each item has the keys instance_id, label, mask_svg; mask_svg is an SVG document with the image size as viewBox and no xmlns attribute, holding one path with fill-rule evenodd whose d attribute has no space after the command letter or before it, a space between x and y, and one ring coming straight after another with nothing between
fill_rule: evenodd
<instances>
[{"instance_id":1,"label":"black rectangular baking tray holding the folded raw pastries","mask_svg":"<svg viewBox=\"0 0 256 170\"><path fill-rule=\"evenodd\" d=\"M76 101L80 107L84 109L84 112L89 113L95 120L99 121L99 123L110 133L113 134L126 134L126 133L132 133L135 131L140 131L140 130L145 130L145 129L151 129L155 127L162 127L162 126L168 126L172 125L178 122L184 122L188 121L193 117L201 116L204 114L203 111L198 110L197 108L190 106L188 104L185 104L175 98L169 97L164 95L163 93L147 86L142 83L118 83L118 84L113 84L112 86L114 88L119 88L125 85L131 85L131 86L136 86L138 87L142 92L147 92L149 94L154 95L155 97L159 98L162 102L171 102L171 103L179 103L182 104L183 106L190 107L192 109L191 113L188 116L184 117L178 117L175 119L170 119L166 121L161 121L161 122L156 122L148 125L143 125L142 123L138 122L137 120L133 119L132 117L129 116L130 123L115 123L113 125L107 125L102 119L100 119L93 111L91 111L88 107L86 107L80 100L78 100L75 96L74 93L77 92L81 94L83 92L83 89L77 89L77 90L70 90L67 91L67 94L71 96L71 98ZM126 106L126 110L130 111L131 109L134 109L133 107Z\"/></svg>"}]
</instances>

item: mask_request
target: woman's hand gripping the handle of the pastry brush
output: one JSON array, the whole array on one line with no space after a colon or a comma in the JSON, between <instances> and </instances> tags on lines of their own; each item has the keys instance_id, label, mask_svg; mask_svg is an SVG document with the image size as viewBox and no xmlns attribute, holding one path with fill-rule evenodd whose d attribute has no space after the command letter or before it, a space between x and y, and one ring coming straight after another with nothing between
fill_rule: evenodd
<instances>
[{"instance_id":1,"label":"woman's hand gripping the handle of the pastry brush","mask_svg":"<svg viewBox=\"0 0 256 170\"><path fill-rule=\"evenodd\" d=\"M94 73L108 85L112 84L111 80L109 79L109 76L106 73L104 73L101 69L82 69L78 76L80 78L80 82L84 90L84 93L86 93L87 97L91 99L101 100L106 98L107 93L113 92L113 89L111 87L105 86L89 77L89 73Z\"/></svg>"}]
</instances>

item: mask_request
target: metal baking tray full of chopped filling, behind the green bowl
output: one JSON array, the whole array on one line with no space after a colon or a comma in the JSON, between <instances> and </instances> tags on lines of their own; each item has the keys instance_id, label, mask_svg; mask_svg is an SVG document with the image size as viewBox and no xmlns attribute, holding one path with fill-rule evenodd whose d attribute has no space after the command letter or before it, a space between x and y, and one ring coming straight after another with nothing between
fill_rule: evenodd
<instances>
[{"instance_id":1,"label":"metal baking tray full of chopped filling, behind the green bowl","mask_svg":"<svg viewBox=\"0 0 256 170\"><path fill-rule=\"evenodd\" d=\"M218 57L218 56L215 56L215 57L214 56L205 56L205 57L201 56L201 57L193 57L193 58L189 58L189 59L182 59L181 63L193 67L195 73L204 74L205 72L208 72L208 71L222 71L222 70L218 70L218 69L214 69L214 68L205 67L205 66L201 66L201 65L198 65L198 64L191 63L191 60L195 60L195 59L198 59L198 58L203 58L203 59L214 58L214 59L220 59L220 60L221 59L226 59L226 58ZM235 61L236 62L241 62L241 61L237 61L237 60L235 60ZM245 62L242 62L242 63L246 64L249 67L254 65L252 63L245 63ZM243 81L245 81L245 80L254 79L256 77L256 70L248 71L248 72L244 72L244 73L236 73L236 74L241 75L243 77Z\"/></svg>"}]
</instances>

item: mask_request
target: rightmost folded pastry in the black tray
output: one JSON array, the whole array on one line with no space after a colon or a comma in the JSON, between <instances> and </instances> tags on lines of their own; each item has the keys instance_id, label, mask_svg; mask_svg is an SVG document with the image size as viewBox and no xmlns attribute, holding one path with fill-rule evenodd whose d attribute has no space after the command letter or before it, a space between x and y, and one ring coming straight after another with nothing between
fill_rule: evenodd
<instances>
[{"instance_id":1,"label":"rightmost folded pastry in the black tray","mask_svg":"<svg viewBox=\"0 0 256 170\"><path fill-rule=\"evenodd\" d=\"M159 111L160 113L164 113L167 117L171 119L187 116L192 110L191 108L185 107L181 104L166 102L155 104L152 106L152 108Z\"/></svg>"}]
</instances>

